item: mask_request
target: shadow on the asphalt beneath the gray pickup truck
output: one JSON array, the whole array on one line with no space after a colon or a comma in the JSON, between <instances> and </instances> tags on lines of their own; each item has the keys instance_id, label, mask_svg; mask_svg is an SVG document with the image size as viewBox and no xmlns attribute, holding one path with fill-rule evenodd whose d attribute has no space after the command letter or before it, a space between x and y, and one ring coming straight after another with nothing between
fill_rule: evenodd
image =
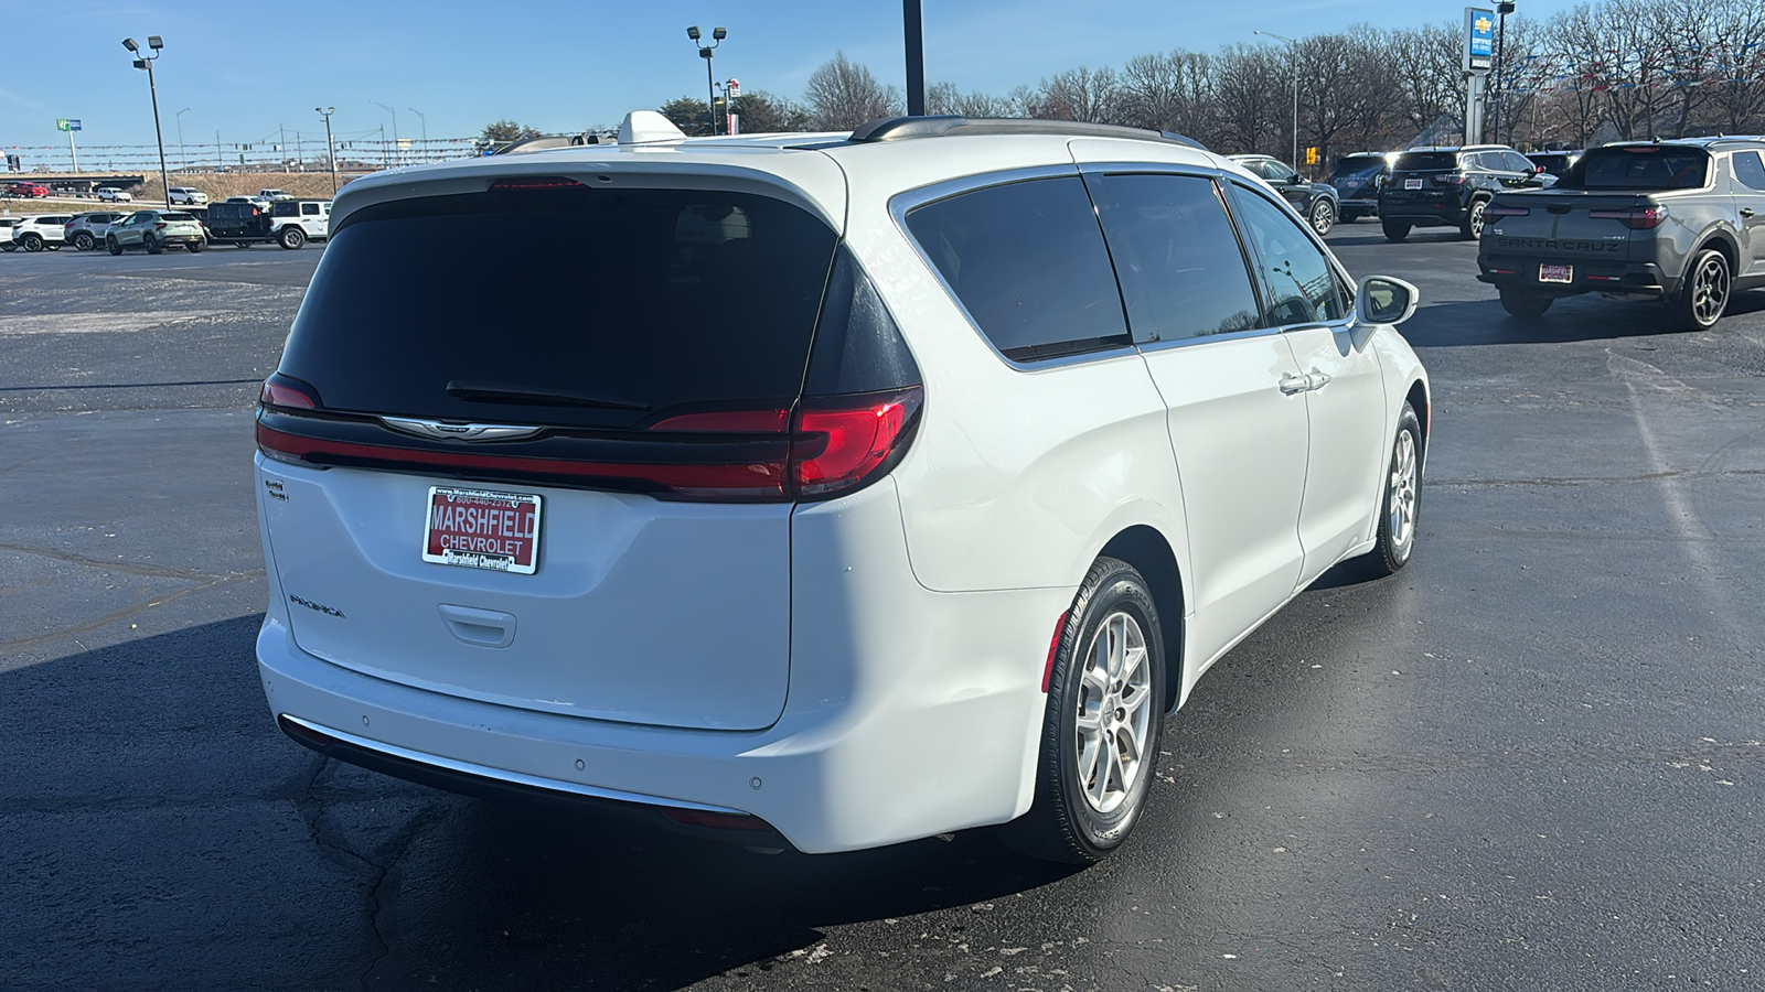
<instances>
[{"instance_id":1,"label":"shadow on the asphalt beneath the gray pickup truck","mask_svg":"<svg viewBox=\"0 0 1765 992\"><path fill-rule=\"evenodd\" d=\"M1765 293L1739 293L1730 300L1728 318L1761 311L1765 311ZM1608 300L1599 295L1557 300L1541 318L1509 316L1500 300L1495 298L1424 304L1398 330L1417 349L1479 344L1567 344L1689 334L1671 323L1671 314L1661 304ZM1719 321L1709 334L1723 334L1723 323Z\"/></svg>"}]
</instances>

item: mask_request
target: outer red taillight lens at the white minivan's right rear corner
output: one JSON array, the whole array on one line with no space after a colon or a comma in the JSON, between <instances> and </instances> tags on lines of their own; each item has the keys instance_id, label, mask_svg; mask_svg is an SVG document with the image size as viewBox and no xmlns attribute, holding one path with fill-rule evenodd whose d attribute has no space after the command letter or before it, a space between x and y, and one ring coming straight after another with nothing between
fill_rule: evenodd
<instances>
[{"instance_id":1,"label":"outer red taillight lens at the white minivan's right rear corner","mask_svg":"<svg viewBox=\"0 0 1765 992\"><path fill-rule=\"evenodd\" d=\"M791 485L798 496L828 496L861 485L907 440L925 392L812 397L791 424Z\"/></svg>"}]
</instances>

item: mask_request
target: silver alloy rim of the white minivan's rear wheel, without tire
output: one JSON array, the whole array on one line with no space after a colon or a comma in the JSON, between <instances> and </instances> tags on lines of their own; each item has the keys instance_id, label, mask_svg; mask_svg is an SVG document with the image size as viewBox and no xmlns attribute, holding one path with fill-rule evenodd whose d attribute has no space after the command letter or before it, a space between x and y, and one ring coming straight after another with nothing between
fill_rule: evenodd
<instances>
[{"instance_id":1,"label":"silver alloy rim of the white minivan's rear wheel, without tire","mask_svg":"<svg viewBox=\"0 0 1765 992\"><path fill-rule=\"evenodd\" d=\"M1145 773L1151 694L1145 632L1130 612L1115 611L1091 637L1078 688L1078 784L1101 814L1123 805Z\"/></svg>"}]
</instances>

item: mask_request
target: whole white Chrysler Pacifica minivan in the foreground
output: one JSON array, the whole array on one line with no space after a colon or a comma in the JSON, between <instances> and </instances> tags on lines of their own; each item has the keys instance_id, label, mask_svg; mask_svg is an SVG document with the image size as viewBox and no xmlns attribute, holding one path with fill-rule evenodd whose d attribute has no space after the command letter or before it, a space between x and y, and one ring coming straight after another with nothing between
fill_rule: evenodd
<instances>
[{"instance_id":1,"label":"whole white Chrysler Pacifica minivan in the foreground","mask_svg":"<svg viewBox=\"0 0 1765 992\"><path fill-rule=\"evenodd\" d=\"M572 237L461 252L484 219ZM1207 665L1333 565L1410 558L1414 307L1250 173L1115 127L357 180L258 413L270 711L752 845L1006 824L1094 861Z\"/></svg>"}]
</instances>

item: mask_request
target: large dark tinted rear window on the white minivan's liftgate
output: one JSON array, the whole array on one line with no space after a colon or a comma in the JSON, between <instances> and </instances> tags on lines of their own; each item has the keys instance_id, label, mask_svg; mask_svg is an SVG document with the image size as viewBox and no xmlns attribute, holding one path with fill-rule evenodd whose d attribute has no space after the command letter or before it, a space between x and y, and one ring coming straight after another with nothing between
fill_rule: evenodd
<instances>
[{"instance_id":1,"label":"large dark tinted rear window on the white minivan's liftgate","mask_svg":"<svg viewBox=\"0 0 1765 992\"><path fill-rule=\"evenodd\" d=\"M494 238L485 231L545 231ZM789 402L835 233L702 191L517 191L364 208L332 233L281 372L328 410L625 427Z\"/></svg>"}]
</instances>

